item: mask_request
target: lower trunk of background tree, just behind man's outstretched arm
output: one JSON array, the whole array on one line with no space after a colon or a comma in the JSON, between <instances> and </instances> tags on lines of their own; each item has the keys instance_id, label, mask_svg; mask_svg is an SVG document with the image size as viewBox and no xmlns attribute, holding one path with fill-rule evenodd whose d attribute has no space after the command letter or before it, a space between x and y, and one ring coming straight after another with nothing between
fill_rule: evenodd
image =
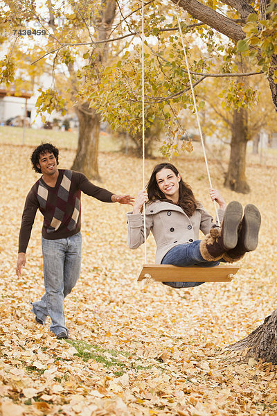
<instances>
[{"instance_id":1,"label":"lower trunk of background tree, just behind man's outstretched arm","mask_svg":"<svg viewBox=\"0 0 277 416\"><path fill-rule=\"evenodd\" d=\"M79 120L78 149L71 169L84 173L89 179L100 180L98 173L98 142L100 115L88 103L75 107Z\"/></svg>"}]
</instances>

